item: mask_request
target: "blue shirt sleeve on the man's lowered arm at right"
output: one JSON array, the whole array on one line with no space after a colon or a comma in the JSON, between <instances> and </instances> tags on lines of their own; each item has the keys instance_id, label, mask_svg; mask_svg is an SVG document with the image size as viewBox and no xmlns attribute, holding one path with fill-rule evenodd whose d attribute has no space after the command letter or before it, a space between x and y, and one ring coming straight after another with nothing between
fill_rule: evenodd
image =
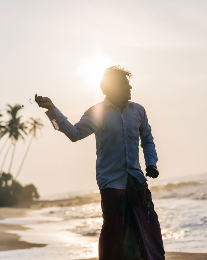
<instances>
[{"instance_id":1,"label":"blue shirt sleeve on the man's lowered arm at right","mask_svg":"<svg viewBox=\"0 0 207 260\"><path fill-rule=\"evenodd\" d=\"M143 108L142 124L140 126L140 145L143 149L146 167L149 165L154 165L155 167L157 167L156 163L158 161L158 158L151 130L152 129L148 123L146 111Z\"/></svg>"}]
</instances>

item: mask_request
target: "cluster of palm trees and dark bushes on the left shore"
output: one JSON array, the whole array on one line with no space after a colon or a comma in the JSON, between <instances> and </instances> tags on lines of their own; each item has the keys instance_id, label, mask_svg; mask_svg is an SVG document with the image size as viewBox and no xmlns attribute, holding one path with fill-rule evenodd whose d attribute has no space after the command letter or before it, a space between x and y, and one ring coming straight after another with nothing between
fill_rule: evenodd
<instances>
[{"instance_id":1,"label":"cluster of palm trees and dark bushes on the left shore","mask_svg":"<svg viewBox=\"0 0 207 260\"><path fill-rule=\"evenodd\" d=\"M32 201L39 198L38 191L33 184L23 186L17 181L17 178L22 170L23 164L32 144L32 140L37 137L37 130L40 130L44 125L39 118L30 118L23 121L19 111L23 106L16 104L11 106L6 105L6 115L8 120L2 120L3 113L0 112L0 206L12 206L25 201ZM20 139L25 140L30 138L28 145L23 152L23 158L19 168L15 171L15 177L11 174L11 167L15 157L15 148ZM12 149L12 151L11 151ZM4 171L5 162L8 160L8 171ZM4 155L1 158L1 155Z\"/></svg>"}]
</instances>

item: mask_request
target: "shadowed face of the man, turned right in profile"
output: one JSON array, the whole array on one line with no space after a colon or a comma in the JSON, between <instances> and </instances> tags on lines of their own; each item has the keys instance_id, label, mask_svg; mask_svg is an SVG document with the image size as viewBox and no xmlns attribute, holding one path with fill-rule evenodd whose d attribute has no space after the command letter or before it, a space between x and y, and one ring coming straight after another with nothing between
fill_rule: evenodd
<instances>
[{"instance_id":1,"label":"shadowed face of the man, turned right in profile","mask_svg":"<svg viewBox=\"0 0 207 260\"><path fill-rule=\"evenodd\" d=\"M126 76L116 75L112 80L110 93L107 96L116 99L117 101L128 101L131 99L131 85Z\"/></svg>"}]
</instances>

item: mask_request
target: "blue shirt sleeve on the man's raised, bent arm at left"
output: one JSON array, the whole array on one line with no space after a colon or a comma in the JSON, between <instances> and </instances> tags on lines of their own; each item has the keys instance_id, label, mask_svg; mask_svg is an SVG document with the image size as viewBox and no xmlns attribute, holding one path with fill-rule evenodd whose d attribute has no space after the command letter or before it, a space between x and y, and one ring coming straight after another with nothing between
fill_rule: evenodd
<instances>
[{"instance_id":1,"label":"blue shirt sleeve on the man's raised, bent arm at left","mask_svg":"<svg viewBox=\"0 0 207 260\"><path fill-rule=\"evenodd\" d=\"M80 121L72 125L57 107L45 112L55 130L64 133L72 142L81 140L100 129L99 122L93 116L91 109L82 115Z\"/></svg>"}]
</instances>

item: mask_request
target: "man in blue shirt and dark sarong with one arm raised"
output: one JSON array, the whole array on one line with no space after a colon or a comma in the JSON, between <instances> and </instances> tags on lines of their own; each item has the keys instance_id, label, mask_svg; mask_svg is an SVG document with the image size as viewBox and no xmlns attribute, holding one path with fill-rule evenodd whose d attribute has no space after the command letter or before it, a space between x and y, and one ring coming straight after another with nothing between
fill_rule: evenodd
<instances>
[{"instance_id":1,"label":"man in blue shirt and dark sarong with one arm raised","mask_svg":"<svg viewBox=\"0 0 207 260\"><path fill-rule=\"evenodd\" d=\"M49 98L35 95L54 128L75 142L95 133L96 180L101 194L103 225L99 260L163 260L158 217L147 179L139 163L139 139L146 176L156 178L158 160L145 109L131 99L132 73L112 66L100 86L106 98L70 124Z\"/></svg>"}]
</instances>

